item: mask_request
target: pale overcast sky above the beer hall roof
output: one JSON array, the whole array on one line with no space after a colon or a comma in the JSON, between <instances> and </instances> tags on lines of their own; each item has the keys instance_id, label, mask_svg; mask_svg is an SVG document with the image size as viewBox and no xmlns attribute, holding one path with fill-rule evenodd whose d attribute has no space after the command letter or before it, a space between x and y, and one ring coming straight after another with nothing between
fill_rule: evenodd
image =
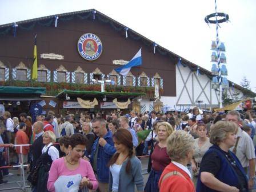
<instances>
[{"instance_id":1,"label":"pale overcast sky above the beer hall roof","mask_svg":"<svg viewBox=\"0 0 256 192\"><path fill-rule=\"evenodd\" d=\"M217 0L218 12L229 14L219 38L225 42L228 79L240 84L243 76L255 91L256 1ZM211 40L215 26L206 15L214 0L0 0L0 25L71 11L96 9L175 54L211 70ZM1 45L0 45L1 46ZM143 55L142 55L143 57Z\"/></svg>"}]
</instances>

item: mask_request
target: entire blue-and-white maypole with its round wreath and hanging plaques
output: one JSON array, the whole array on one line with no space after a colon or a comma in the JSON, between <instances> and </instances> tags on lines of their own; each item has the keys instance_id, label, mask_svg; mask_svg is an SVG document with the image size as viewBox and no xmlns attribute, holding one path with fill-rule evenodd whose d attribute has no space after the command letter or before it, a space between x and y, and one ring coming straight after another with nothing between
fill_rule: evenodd
<instances>
[{"instance_id":1,"label":"entire blue-and-white maypole with its round wreath and hanging plaques","mask_svg":"<svg viewBox=\"0 0 256 192\"><path fill-rule=\"evenodd\" d=\"M215 19L211 19L214 18ZM226 63L227 59L225 56L225 45L223 42L219 42L219 31L218 27L219 23L229 21L229 15L226 13L218 13L217 12L217 0L215 0L215 13L207 15L205 17L205 22L207 25L215 24L216 25L216 41L212 41L211 43L211 74L213 77L213 89L219 89L219 107L222 108L222 89L229 89L229 81L227 81L227 68ZM217 65L216 65L217 64Z\"/></svg>"}]
</instances>

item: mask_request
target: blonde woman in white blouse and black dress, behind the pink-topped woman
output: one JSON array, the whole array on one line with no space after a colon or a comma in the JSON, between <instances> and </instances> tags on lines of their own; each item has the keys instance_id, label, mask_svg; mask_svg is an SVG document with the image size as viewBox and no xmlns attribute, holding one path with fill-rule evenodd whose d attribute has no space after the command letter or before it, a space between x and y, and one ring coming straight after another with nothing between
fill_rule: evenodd
<instances>
[{"instance_id":1,"label":"blonde woman in white blouse and black dress, behind the pink-topped woman","mask_svg":"<svg viewBox=\"0 0 256 192\"><path fill-rule=\"evenodd\" d=\"M55 134L52 131L45 131L43 133L43 144L45 146L39 158L41 162L38 162L41 163L41 166L38 171L37 192L45 191L51 163L59 158L59 151L53 146L54 142L56 142Z\"/></svg>"}]
</instances>

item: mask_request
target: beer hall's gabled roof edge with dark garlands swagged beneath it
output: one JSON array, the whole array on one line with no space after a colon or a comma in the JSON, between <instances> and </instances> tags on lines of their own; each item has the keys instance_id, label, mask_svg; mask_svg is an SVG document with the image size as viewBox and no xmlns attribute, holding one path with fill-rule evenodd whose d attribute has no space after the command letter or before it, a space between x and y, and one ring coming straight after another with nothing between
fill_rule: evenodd
<instances>
[{"instance_id":1,"label":"beer hall's gabled roof edge with dark garlands swagged beneath it","mask_svg":"<svg viewBox=\"0 0 256 192\"><path fill-rule=\"evenodd\" d=\"M15 22L16 24L18 24L18 27L20 27L21 29L26 28L23 25L27 25L31 23L31 26L27 27L27 29L33 29L33 27L37 24L37 25L41 25L41 26L54 26L55 23L55 17L58 17L59 21L70 21L71 19L73 19L74 17L78 17L80 19L93 19L95 17L95 19L97 19L100 22L103 23L109 23L111 27L113 27L115 30L117 31L121 31L121 33L123 33L123 35L125 36L125 31L127 30L128 33L128 37L132 38L134 40L140 40L142 41L145 45L150 46L150 49L154 49L154 44L155 42L151 41L150 39L144 37L143 35L137 33L136 31L130 29L129 27L122 25L122 23L119 23L117 21L115 21L114 19L108 17L107 15L95 10L95 9L89 9L89 10L83 10L83 11L74 11L74 12L70 12L70 13L62 13L62 14L56 14L56 15L49 15L46 17L39 17L39 18L35 18L35 19L28 19L25 21L18 21ZM43 22L46 21L46 22ZM13 29L14 23L7 23L4 25L0 25L0 35L3 34L8 34L10 33L10 30ZM27 30L26 29L26 30ZM168 57L170 57L176 64L179 62L179 59L181 59L181 64L183 66L188 66L190 68L190 70L192 71L197 71L198 67L199 67L199 73L200 74L205 74L207 75L207 77L212 78L213 75L211 75L211 71L204 69L198 65L195 65L195 63L188 61L185 58L182 58L181 56L171 52L170 50L165 49L165 47L162 47L160 45L157 45L157 47L155 47L155 51L158 52L161 55L167 55ZM247 90L245 88L243 88L242 86L238 85L237 83L231 82L229 81L230 86L234 86L236 89L241 90L242 92L245 91L250 91ZM254 94L256 96L256 93L254 93L253 91L250 91L252 94Z\"/></svg>"}]
</instances>

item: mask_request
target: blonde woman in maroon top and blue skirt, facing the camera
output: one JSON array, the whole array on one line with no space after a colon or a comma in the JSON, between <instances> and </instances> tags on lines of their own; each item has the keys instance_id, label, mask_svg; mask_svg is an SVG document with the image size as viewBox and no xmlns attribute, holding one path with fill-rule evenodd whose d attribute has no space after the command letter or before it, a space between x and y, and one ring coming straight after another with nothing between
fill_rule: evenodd
<instances>
[{"instance_id":1,"label":"blonde woman in maroon top and blue skirt, facing the camera","mask_svg":"<svg viewBox=\"0 0 256 192\"><path fill-rule=\"evenodd\" d=\"M157 142L151 154L152 169L147 180L144 191L157 192L159 178L167 165L171 162L167 154L167 138L173 133L174 129L168 122L157 123Z\"/></svg>"}]
</instances>

